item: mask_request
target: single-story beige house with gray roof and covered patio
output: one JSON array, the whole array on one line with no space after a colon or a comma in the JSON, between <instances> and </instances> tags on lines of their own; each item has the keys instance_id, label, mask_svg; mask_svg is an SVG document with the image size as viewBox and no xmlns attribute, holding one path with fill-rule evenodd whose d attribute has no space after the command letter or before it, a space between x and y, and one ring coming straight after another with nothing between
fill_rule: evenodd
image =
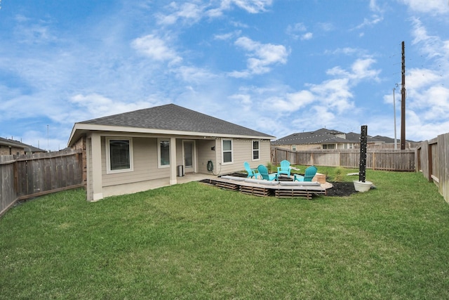
<instances>
[{"instance_id":1,"label":"single-story beige house with gray roof and covered patio","mask_svg":"<svg viewBox=\"0 0 449 300\"><path fill-rule=\"evenodd\" d=\"M86 152L88 201L176 184L184 174L229 174L270 161L274 136L174 104L75 123Z\"/></svg>"}]
</instances>

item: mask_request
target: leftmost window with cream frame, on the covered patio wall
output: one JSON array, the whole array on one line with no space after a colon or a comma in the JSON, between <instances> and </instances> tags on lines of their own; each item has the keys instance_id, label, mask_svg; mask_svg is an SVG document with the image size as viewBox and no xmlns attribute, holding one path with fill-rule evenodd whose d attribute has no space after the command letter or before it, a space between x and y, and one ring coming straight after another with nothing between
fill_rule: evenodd
<instances>
[{"instance_id":1,"label":"leftmost window with cream frame, on the covered patio wall","mask_svg":"<svg viewBox=\"0 0 449 300\"><path fill-rule=\"evenodd\" d=\"M133 171L133 140L106 139L107 174Z\"/></svg>"}]
</instances>

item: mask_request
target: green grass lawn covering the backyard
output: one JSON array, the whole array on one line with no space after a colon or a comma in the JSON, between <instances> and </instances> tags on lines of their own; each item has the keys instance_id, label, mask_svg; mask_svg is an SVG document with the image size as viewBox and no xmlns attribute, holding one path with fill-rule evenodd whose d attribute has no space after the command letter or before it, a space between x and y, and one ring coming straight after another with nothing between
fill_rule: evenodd
<instances>
[{"instance_id":1,"label":"green grass lawn covering the backyard","mask_svg":"<svg viewBox=\"0 0 449 300\"><path fill-rule=\"evenodd\" d=\"M304 168L301 167L303 170ZM319 167L330 181L354 169ZM314 200L187 183L0 219L1 299L449 299L449 206L422 174Z\"/></svg>"}]
</instances>

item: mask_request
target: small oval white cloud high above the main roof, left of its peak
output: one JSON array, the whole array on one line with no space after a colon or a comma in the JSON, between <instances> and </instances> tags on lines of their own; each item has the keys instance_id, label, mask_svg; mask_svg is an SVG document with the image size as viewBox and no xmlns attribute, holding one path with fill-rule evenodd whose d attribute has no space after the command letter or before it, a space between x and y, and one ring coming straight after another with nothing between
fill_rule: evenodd
<instances>
[{"instance_id":1,"label":"small oval white cloud high above the main roof, left of its peak","mask_svg":"<svg viewBox=\"0 0 449 300\"><path fill-rule=\"evenodd\" d=\"M156 37L154 34L148 34L145 37L133 40L131 46L154 60L168 60L170 63L180 63L182 60L175 50L168 47L163 39Z\"/></svg>"}]
</instances>

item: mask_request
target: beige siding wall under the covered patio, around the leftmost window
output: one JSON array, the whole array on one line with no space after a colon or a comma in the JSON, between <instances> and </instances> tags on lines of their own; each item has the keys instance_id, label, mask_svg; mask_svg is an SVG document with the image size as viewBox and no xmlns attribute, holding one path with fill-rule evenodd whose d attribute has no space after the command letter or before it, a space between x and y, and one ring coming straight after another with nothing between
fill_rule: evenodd
<instances>
[{"instance_id":1,"label":"beige siding wall under the covered patio, around the leftmost window","mask_svg":"<svg viewBox=\"0 0 449 300\"><path fill-rule=\"evenodd\" d=\"M170 168L158 168L157 138L133 138L133 171L107 174L106 138L102 137L102 186L135 183L170 176ZM171 163L171 162L170 162Z\"/></svg>"}]
</instances>

